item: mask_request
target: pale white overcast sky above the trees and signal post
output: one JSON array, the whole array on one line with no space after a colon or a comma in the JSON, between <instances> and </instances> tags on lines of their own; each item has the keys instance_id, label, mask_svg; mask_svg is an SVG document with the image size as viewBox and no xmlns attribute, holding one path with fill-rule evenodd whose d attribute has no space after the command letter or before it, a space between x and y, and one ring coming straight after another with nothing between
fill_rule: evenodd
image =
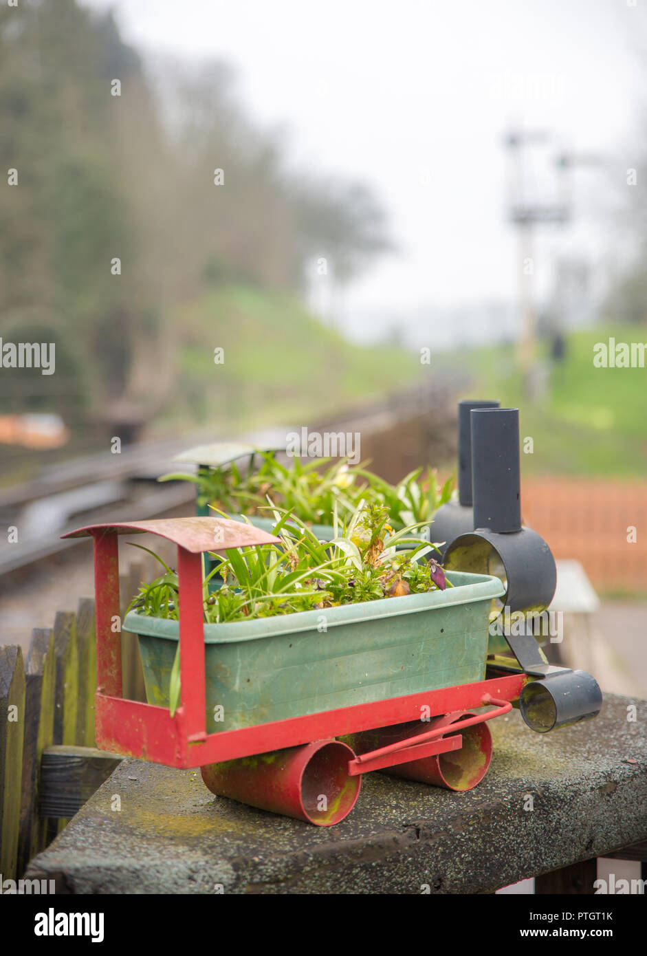
<instances>
[{"instance_id":1,"label":"pale white overcast sky above the trees and signal post","mask_svg":"<svg viewBox=\"0 0 647 956\"><path fill-rule=\"evenodd\" d=\"M577 174L573 226L541 230L539 291L560 250L604 250L609 177L621 190L637 162L647 0L83 2L113 7L140 49L225 59L248 113L290 130L293 162L375 188L399 253L344 296L356 335L426 307L514 301L502 147L511 121L609 157L604 171ZM549 158L536 156L540 198L553 185Z\"/></svg>"}]
</instances>

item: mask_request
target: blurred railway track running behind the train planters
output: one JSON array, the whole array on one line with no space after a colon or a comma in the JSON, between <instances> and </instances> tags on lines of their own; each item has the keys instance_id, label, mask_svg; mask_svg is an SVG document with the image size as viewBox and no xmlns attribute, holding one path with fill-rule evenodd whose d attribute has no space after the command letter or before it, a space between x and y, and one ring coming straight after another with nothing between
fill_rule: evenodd
<instances>
[{"instance_id":1,"label":"blurred railway track running behind the train planters","mask_svg":"<svg viewBox=\"0 0 647 956\"><path fill-rule=\"evenodd\" d=\"M338 413L334 423L327 421L313 427L362 435L386 432L402 421L428 415L453 402L467 384L460 374L437 376L426 387L413 386L382 402L357 405ZM287 430L290 428L272 428L236 438L270 447L285 441ZM84 455L50 466L21 486L0 490L0 527L8 530L2 535L0 576L74 548L82 539L61 540L60 535L79 525L160 517L184 505L189 507L195 493L192 485L161 485L157 478L178 469L173 457L183 449L230 438L210 430L182 439L130 445L119 454Z\"/></svg>"}]
</instances>

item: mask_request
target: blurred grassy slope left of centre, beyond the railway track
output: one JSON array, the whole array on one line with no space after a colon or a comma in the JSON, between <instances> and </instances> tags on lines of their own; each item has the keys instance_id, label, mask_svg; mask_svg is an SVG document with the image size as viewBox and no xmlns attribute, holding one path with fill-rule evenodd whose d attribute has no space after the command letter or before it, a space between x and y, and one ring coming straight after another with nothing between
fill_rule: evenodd
<instances>
[{"instance_id":1,"label":"blurred grassy slope left of centre, beyond the railway track","mask_svg":"<svg viewBox=\"0 0 647 956\"><path fill-rule=\"evenodd\" d=\"M354 345L286 293L215 289L185 307L180 390L189 418L237 426L308 424L422 376L417 356ZM214 349L224 350L222 364Z\"/></svg>"}]
</instances>

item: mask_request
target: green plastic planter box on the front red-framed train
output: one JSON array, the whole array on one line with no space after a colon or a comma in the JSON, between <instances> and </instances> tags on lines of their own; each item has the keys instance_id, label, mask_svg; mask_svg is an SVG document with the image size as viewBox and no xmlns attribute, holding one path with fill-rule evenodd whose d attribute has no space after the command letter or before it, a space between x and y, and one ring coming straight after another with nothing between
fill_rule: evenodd
<instances>
[{"instance_id":1,"label":"green plastic planter box on the front red-framed train","mask_svg":"<svg viewBox=\"0 0 647 956\"><path fill-rule=\"evenodd\" d=\"M491 600L505 588L448 577L445 591L205 624L207 732L483 680ZM168 706L178 621L131 611L123 626L139 635L148 703Z\"/></svg>"}]
</instances>

